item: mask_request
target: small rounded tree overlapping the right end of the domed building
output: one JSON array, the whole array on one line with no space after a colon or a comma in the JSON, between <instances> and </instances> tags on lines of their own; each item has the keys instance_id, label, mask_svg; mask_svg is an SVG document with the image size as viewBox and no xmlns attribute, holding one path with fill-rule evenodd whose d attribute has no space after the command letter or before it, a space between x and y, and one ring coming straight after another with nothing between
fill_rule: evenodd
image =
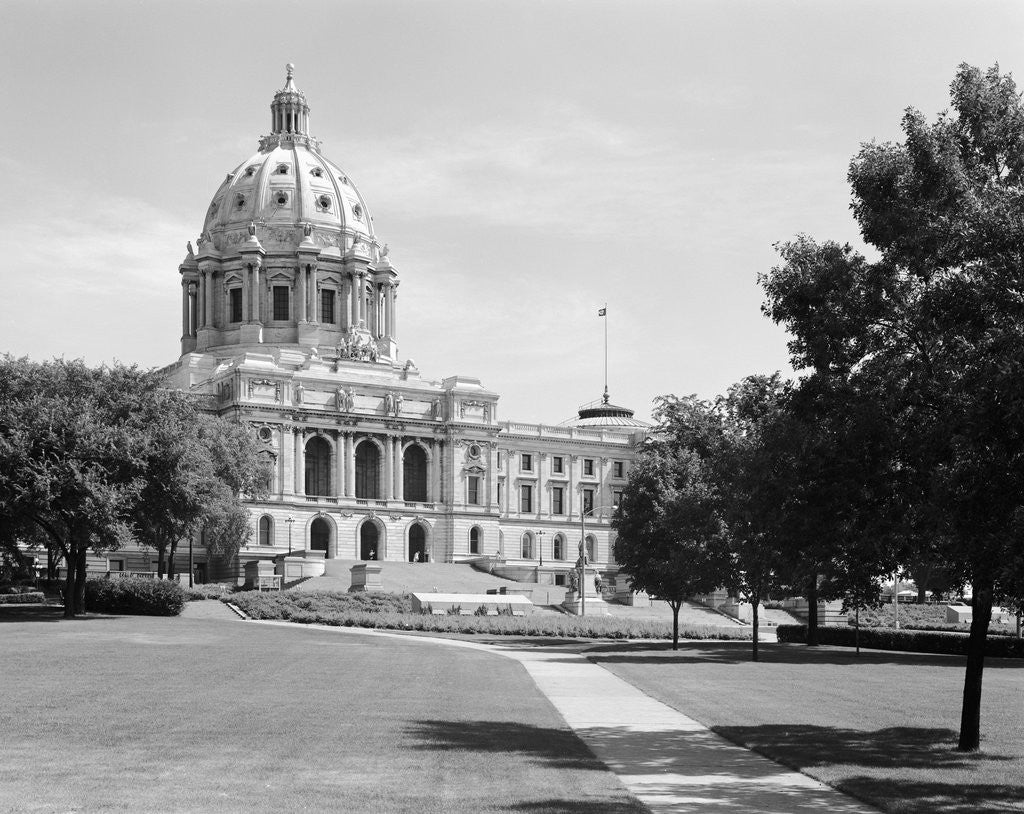
<instances>
[{"instance_id":1,"label":"small rounded tree overlapping the right end of the domed building","mask_svg":"<svg viewBox=\"0 0 1024 814\"><path fill-rule=\"evenodd\" d=\"M612 518L614 555L633 590L669 603L677 650L683 601L723 585L729 560L717 490L701 455L715 444L711 405L663 398L656 415L665 439L648 442L630 470Z\"/></svg>"}]
</instances>

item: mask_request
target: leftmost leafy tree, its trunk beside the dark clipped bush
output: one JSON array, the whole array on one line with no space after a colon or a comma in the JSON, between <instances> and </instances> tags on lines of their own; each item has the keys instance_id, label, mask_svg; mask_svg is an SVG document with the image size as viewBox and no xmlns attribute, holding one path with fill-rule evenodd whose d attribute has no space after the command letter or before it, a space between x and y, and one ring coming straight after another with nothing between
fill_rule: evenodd
<instances>
[{"instance_id":1,"label":"leftmost leafy tree, its trunk beside the dark clipped bush","mask_svg":"<svg viewBox=\"0 0 1024 814\"><path fill-rule=\"evenodd\" d=\"M0 506L67 563L65 616L84 611L86 556L127 541L141 488L139 406L154 374L0 358Z\"/></svg>"}]
</instances>

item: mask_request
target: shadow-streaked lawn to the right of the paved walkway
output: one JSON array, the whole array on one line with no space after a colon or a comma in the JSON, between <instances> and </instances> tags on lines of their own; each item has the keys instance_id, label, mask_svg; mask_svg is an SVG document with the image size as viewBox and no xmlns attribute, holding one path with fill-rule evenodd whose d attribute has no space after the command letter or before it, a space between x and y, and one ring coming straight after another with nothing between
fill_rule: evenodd
<instances>
[{"instance_id":1,"label":"shadow-streaked lawn to the right of the paved walkway","mask_svg":"<svg viewBox=\"0 0 1024 814\"><path fill-rule=\"evenodd\" d=\"M964 658L804 645L603 645L593 660L730 740L906 814L1024 811L1024 661L987 659L982 751L955 751Z\"/></svg>"}]
</instances>

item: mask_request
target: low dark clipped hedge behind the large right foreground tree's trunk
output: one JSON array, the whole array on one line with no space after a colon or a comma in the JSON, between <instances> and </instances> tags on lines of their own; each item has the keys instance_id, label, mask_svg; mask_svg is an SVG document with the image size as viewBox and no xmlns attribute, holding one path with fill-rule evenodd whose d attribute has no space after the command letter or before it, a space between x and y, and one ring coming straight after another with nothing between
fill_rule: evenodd
<instances>
[{"instance_id":1,"label":"low dark clipped hedge behind the large right foreground tree's trunk","mask_svg":"<svg viewBox=\"0 0 1024 814\"><path fill-rule=\"evenodd\" d=\"M780 642L807 642L806 625L779 625L775 629ZM962 633L936 633L932 631L906 631L893 628L861 628L860 646L872 650L904 650L909 653L941 653L967 655L968 635ZM818 628L818 643L839 647L855 647L855 628ZM985 655L992 658L1024 658L1024 639L1009 636L989 636L985 640Z\"/></svg>"}]
</instances>

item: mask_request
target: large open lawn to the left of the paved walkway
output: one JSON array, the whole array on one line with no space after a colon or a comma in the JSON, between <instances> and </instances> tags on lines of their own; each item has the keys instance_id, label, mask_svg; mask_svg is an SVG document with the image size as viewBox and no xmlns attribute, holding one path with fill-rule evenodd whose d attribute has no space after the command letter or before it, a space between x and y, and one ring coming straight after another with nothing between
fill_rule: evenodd
<instances>
[{"instance_id":1,"label":"large open lawn to the left of the paved walkway","mask_svg":"<svg viewBox=\"0 0 1024 814\"><path fill-rule=\"evenodd\" d=\"M58 615L0 610L0 811L645 811L510 659Z\"/></svg>"}]
</instances>

